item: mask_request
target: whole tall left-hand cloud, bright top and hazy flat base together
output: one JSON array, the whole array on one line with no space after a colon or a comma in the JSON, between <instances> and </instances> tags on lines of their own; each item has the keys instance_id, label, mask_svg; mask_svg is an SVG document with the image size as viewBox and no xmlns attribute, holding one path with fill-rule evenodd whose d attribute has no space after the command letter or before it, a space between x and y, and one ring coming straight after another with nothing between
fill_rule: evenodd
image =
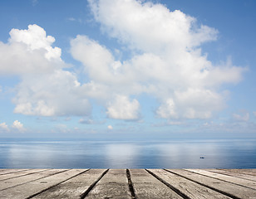
<instances>
[{"instance_id":1,"label":"whole tall left-hand cloud, bright top and hazy flat base together","mask_svg":"<svg viewBox=\"0 0 256 199\"><path fill-rule=\"evenodd\" d=\"M53 36L37 25L12 29L0 43L0 74L19 75L14 113L42 116L87 115L91 105L76 74L65 70L62 50Z\"/></svg>"}]
</instances>

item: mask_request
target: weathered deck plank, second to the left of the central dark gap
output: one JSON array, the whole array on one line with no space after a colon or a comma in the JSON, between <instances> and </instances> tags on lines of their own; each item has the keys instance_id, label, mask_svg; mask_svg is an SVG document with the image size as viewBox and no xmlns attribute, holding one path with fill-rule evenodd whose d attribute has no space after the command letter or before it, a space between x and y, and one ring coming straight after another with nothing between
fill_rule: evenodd
<instances>
[{"instance_id":1,"label":"weathered deck plank, second to the left of the central dark gap","mask_svg":"<svg viewBox=\"0 0 256 199\"><path fill-rule=\"evenodd\" d=\"M66 182L62 182L56 187L48 189L46 192L33 197L33 199L80 199L91 185L96 182L106 169L91 169L81 173L79 176L73 177Z\"/></svg>"}]
</instances>

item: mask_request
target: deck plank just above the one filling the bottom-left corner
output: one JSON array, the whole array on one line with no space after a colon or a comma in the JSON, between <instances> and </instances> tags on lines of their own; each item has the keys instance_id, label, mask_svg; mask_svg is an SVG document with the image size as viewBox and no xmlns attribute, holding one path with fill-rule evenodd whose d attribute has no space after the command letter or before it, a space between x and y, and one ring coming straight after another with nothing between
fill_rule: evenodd
<instances>
[{"instance_id":1,"label":"deck plank just above the one filling the bottom-left corner","mask_svg":"<svg viewBox=\"0 0 256 199\"><path fill-rule=\"evenodd\" d=\"M48 177L58 172L64 172L64 171L66 171L66 169L52 169L44 172L33 173L32 175L28 175L28 176L15 177L12 179L3 180L0 183L0 191L10 187L16 187L18 185L21 185L27 182L35 181L42 177Z\"/></svg>"}]
</instances>

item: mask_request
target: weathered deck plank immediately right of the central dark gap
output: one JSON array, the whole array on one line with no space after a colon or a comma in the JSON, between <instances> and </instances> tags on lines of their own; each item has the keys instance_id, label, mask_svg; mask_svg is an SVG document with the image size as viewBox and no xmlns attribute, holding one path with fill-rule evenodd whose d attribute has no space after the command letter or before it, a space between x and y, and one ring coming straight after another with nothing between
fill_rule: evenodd
<instances>
[{"instance_id":1,"label":"weathered deck plank immediately right of the central dark gap","mask_svg":"<svg viewBox=\"0 0 256 199\"><path fill-rule=\"evenodd\" d=\"M130 178L137 199L182 198L144 169L130 169Z\"/></svg>"}]
</instances>

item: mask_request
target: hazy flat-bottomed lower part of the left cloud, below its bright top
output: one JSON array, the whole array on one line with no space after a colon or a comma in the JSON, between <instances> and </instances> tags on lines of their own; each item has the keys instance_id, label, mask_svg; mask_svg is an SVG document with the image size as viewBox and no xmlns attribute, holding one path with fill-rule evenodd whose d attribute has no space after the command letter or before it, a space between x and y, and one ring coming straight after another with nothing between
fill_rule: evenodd
<instances>
[{"instance_id":1,"label":"hazy flat-bottomed lower part of the left cloud, below its bright top","mask_svg":"<svg viewBox=\"0 0 256 199\"><path fill-rule=\"evenodd\" d=\"M90 114L91 105L81 89L69 71L30 76L17 86L14 112L42 116Z\"/></svg>"}]
</instances>

